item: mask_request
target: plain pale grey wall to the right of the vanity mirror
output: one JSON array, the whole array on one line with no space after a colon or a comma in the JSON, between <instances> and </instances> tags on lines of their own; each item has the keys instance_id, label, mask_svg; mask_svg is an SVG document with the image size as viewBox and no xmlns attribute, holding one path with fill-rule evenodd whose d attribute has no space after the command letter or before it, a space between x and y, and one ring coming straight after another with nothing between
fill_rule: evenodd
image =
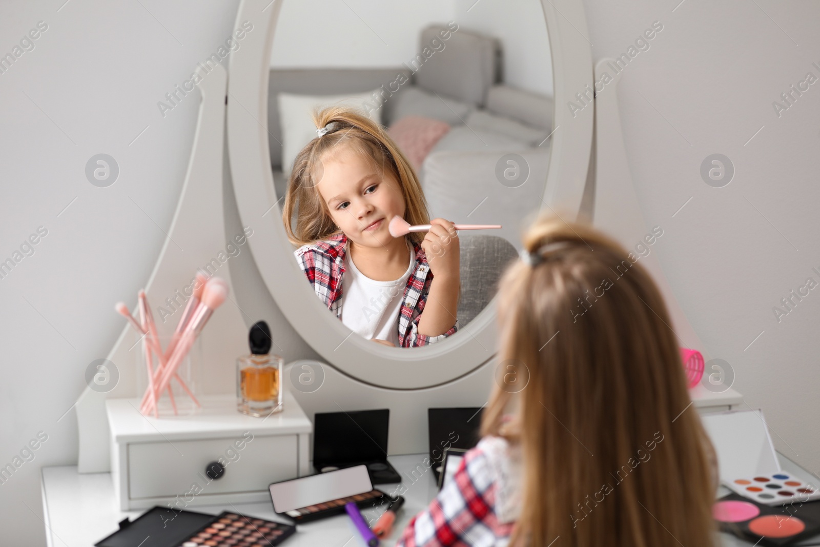
<instances>
[{"instance_id":1,"label":"plain pale grey wall to the right of the vanity mirror","mask_svg":"<svg viewBox=\"0 0 820 547\"><path fill-rule=\"evenodd\" d=\"M664 230L655 250L712 357L763 408L777 449L818 473L820 289L780 322L772 308L807 277L820 282L820 84L781 117L772 102L807 72L820 77L820 6L679 2L584 0L594 58L620 55L663 23L619 91L639 200ZM713 153L736 168L723 188L699 175Z\"/></svg>"}]
</instances>

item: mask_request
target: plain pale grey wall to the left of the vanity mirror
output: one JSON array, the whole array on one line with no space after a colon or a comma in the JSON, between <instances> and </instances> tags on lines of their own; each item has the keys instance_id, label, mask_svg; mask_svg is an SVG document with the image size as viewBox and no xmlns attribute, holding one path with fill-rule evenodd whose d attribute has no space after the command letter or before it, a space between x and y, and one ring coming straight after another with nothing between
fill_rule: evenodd
<instances>
[{"instance_id":1,"label":"plain pale grey wall to the left of the vanity mirror","mask_svg":"<svg viewBox=\"0 0 820 547\"><path fill-rule=\"evenodd\" d=\"M157 102L216 51L238 5L63 2L0 2L2 55L48 25L0 74L0 260L48 230L0 279L0 466L48 435L0 484L2 545L44 545L39 469L76 463L66 411L121 332L114 303L133 307L148 280L185 175L198 95L165 117ZM97 153L120 166L107 188L84 174Z\"/></svg>"}]
</instances>

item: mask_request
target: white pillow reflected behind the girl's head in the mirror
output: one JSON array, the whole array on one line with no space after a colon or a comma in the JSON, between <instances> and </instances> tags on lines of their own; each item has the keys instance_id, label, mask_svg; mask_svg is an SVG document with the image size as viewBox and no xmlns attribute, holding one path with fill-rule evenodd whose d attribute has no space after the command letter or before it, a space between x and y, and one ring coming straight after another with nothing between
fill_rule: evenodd
<instances>
[{"instance_id":1,"label":"white pillow reflected behind the girl's head in the mirror","mask_svg":"<svg viewBox=\"0 0 820 547\"><path fill-rule=\"evenodd\" d=\"M356 107L368 114L372 121L380 124L380 108L373 98L374 89L366 93L348 93L344 95L297 95L294 93L279 93L279 123L282 129L282 172L290 177L296 155L317 137L317 127L311 119L311 112L315 107L327 107L335 104L344 104ZM370 112L368 113L368 107Z\"/></svg>"}]
</instances>

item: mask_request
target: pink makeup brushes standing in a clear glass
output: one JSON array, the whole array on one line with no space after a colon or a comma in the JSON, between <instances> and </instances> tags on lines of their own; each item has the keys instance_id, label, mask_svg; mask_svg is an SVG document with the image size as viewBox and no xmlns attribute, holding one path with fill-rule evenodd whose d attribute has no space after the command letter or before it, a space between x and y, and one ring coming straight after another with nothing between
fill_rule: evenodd
<instances>
[{"instance_id":1,"label":"pink makeup brushes standing in a clear glass","mask_svg":"<svg viewBox=\"0 0 820 547\"><path fill-rule=\"evenodd\" d=\"M194 284L194 294L192 294L188 300L185 311L182 313L182 317L180 317L180 321L176 326L174 335L171 337L171 341L164 351L160 345L159 336L157 335L157 325L153 320L151 307L148 305L148 299L144 290L140 290L138 294L137 308L139 321L131 315L125 303L117 303L115 306L116 312L128 319L128 322L134 327L134 330L143 337L142 343L145 355L145 367L148 372L148 388L143 395L139 411L145 415L153 413L154 417L159 416L157 403L162 393L166 390L171 400L171 407L174 408L174 413L177 413L174 394L171 390L171 381L177 382L182 390L190 396L197 407L201 406L189 389L189 386L185 384L185 381L177 373L177 369L185 360L191 346L194 345L194 341L197 339L199 333L202 332L214 310L225 302L225 299L228 297L228 284L225 280L216 276L207 279L201 273L197 274L196 280L197 283ZM156 366L153 362L154 358L157 360Z\"/></svg>"}]
</instances>

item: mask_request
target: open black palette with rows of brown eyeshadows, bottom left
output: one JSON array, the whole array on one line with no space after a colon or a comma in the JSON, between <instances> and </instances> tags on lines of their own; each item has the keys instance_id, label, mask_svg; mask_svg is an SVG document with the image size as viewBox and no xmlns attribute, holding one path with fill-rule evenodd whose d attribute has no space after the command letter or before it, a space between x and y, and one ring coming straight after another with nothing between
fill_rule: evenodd
<instances>
[{"instance_id":1,"label":"open black palette with rows of brown eyeshadows, bottom left","mask_svg":"<svg viewBox=\"0 0 820 547\"><path fill-rule=\"evenodd\" d=\"M296 526L224 511L216 517L194 511L154 507L120 522L120 530L96 547L271 547L296 532Z\"/></svg>"}]
</instances>

